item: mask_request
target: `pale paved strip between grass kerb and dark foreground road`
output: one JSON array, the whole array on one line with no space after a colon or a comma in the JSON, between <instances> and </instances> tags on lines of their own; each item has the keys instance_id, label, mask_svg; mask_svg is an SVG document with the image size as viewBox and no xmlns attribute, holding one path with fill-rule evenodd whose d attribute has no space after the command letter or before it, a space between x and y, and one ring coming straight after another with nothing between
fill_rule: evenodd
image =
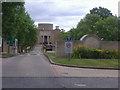
<instances>
[{"instance_id":1,"label":"pale paved strip between grass kerb and dark foreground road","mask_svg":"<svg viewBox=\"0 0 120 90\"><path fill-rule=\"evenodd\" d=\"M60 77L118 77L118 70L83 69L52 65Z\"/></svg>"}]
</instances>

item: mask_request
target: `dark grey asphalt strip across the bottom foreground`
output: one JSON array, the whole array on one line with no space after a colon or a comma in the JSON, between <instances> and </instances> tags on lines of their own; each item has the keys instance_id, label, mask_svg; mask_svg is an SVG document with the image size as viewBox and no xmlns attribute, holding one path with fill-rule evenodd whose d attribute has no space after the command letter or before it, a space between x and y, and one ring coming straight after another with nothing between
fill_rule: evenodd
<instances>
[{"instance_id":1,"label":"dark grey asphalt strip across the bottom foreground","mask_svg":"<svg viewBox=\"0 0 120 90\"><path fill-rule=\"evenodd\" d=\"M3 88L118 88L117 78L3 78Z\"/></svg>"}]
</instances>

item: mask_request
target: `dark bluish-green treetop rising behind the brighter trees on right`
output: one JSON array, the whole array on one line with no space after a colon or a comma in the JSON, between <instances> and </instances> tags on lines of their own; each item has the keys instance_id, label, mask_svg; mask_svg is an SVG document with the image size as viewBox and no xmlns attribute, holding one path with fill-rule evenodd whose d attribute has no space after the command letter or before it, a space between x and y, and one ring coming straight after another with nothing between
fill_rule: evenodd
<instances>
[{"instance_id":1,"label":"dark bluish-green treetop rising behind the brighter trees on right","mask_svg":"<svg viewBox=\"0 0 120 90\"><path fill-rule=\"evenodd\" d=\"M104 18L107 18L107 17L109 17L109 16L113 16L110 10L108 10L107 8L102 8L102 7L93 8L92 10L90 10L90 14L98 14L98 15L100 15L103 19L104 19Z\"/></svg>"}]
</instances>

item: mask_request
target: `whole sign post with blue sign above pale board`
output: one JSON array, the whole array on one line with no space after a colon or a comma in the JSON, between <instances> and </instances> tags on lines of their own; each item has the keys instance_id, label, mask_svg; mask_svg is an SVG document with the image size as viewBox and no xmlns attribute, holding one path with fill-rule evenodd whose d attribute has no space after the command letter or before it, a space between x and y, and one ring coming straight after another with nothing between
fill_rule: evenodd
<instances>
[{"instance_id":1,"label":"whole sign post with blue sign above pale board","mask_svg":"<svg viewBox=\"0 0 120 90\"><path fill-rule=\"evenodd\" d=\"M70 60L70 54L73 51L73 43L71 42L71 37L67 37L67 42L65 42L65 53L68 54L68 58Z\"/></svg>"}]
</instances>

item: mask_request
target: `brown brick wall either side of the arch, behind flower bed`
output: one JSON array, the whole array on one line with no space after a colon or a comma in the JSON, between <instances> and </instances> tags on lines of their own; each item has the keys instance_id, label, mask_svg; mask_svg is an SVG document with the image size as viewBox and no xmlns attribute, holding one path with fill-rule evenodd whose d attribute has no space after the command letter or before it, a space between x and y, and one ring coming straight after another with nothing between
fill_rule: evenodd
<instances>
[{"instance_id":1,"label":"brown brick wall either side of the arch, behind flower bed","mask_svg":"<svg viewBox=\"0 0 120 90\"><path fill-rule=\"evenodd\" d=\"M67 41L57 41L56 43L56 56L57 57L68 57L65 53L65 42ZM73 47L77 44L83 44L80 40L71 41L73 43ZM110 50L120 50L119 48L120 42L117 41L100 41L100 49L110 49Z\"/></svg>"}]
</instances>

